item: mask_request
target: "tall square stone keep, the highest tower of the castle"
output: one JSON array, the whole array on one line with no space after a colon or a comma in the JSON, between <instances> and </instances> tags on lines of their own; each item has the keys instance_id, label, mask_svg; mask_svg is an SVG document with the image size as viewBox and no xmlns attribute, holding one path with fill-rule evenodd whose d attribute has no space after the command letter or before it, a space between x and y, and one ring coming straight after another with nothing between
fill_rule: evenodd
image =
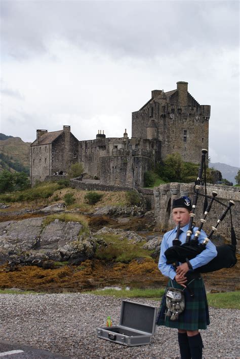
<instances>
[{"instance_id":1,"label":"tall square stone keep, the highest tower of the castle","mask_svg":"<svg viewBox=\"0 0 240 359\"><path fill-rule=\"evenodd\" d=\"M198 163L202 148L208 149L210 111L188 92L187 82L178 81L175 90L152 90L150 100L132 113L132 137L156 136L163 160L179 153L185 162Z\"/></svg>"}]
</instances>

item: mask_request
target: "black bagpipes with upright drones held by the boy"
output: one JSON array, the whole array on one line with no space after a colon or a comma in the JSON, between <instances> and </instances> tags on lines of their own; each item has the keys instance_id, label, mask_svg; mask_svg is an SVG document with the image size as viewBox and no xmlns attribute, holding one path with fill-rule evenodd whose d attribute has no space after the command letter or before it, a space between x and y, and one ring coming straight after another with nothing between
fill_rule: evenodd
<instances>
[{"instance_id":1,"label":"black bagpipes with upright drones held by the boy","mask_svg":"<svg viewBox=\"0 0 240 359\"><path fill-rule=\"evenodd\" d=\"M165 252L165 256L167 258L167 264L172 264L173 266L177 266L179 262L181 263L188 263L189 269L191 268L189 260L195 258L198 254L203 252L206 249L206 246L210 239L212 238L214 232L217 231L218 225L223 221L228 211L230 211L230 219L231 219L231 244L222 244L216 246L217 249L217 256L211 260L208 264L199 267L196 269L197 272L201 273L209 273L214 272L222 268L231 268L233 267L236 262L236 236L232 225L232 216L231 216L231 207L234 205L233 201L229 201L228 205L220 202L216 199L217 193L214 191L212 192L212 197L207 196L207 187L206 187L206 154L207 150L202 150L202 161L201 166L198 169L197 180L194 185L194 196L192 201L192 213L190 213L190 221L189 227L187 231L186 242L184 244L181 243L179 238L179 231L180 231L180 224L178 225L176 239L173 240L173 246L168 248ZM205 173L205 195L199 194L199 189L201 188L201 184L203 182L203 172ZM195 208L197 203L198 196L204 196L204 218L201 219L201 224L199 225L198 229L194 234L194 238L191 239L193 234L192 225L193 225L193 218L195 217ZM210 203L208 204L207 198L210 199ZM204 223L206 223L206 217L212 207L213 202L216 201L223 205L225 210L217 220L215 227L212 227L211 233L205 238L203 243L198 242L198 237L201 233Z\"/></svg>"}]
</instances>

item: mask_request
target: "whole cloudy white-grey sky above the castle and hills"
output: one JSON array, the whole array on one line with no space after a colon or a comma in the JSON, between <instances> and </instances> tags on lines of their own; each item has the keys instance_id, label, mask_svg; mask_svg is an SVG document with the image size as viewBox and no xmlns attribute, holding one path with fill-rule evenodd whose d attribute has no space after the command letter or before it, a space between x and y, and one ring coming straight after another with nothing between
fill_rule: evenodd
<instances>
[{"instance_id":1,"label":"whole cloudy white-grey sky above the castle and hills","mask_svg":"<svg viewBox=\"0 0 240 359\"><path fill-rule=\"evenodd\" d=\"M151 90L211 105L212 162L239 165L237 1L0 0L0 132L131 136Z\"/></svg>"}]
</instances>

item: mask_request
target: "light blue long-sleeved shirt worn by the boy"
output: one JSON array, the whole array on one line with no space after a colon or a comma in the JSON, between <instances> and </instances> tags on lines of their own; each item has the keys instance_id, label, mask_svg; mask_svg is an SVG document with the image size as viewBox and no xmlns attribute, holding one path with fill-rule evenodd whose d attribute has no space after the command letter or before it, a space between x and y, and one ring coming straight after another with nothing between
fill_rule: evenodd
<instances>
[{"instance_id":1,"label":"light blue long-sleeved shirt worn by the boy","mask_svg":"<svg viewBox=\"0 0 240 359\"><path fill-rule=\"evenodd\" d=\"M179 240L182 243L185 243L186 236L187 236L187 230L188 230L188 224L181 228L183 231L180 236ZM197 227L193 228L193 234L191 236L191 239L194 237L194 233L196 232ZM166 264L167 258L165 256L165 251L172 247L173 240L176 238L177 233L177 227L173 230L165 233L162 244L161 244L161 250L160 250L160 256L158 261L158 269L162 272L163 275L166 275L166 277L170 277L171 279L175 278L176 272L171 264ZM202 230L201 234L198 237L198 242L202 243L204 239L207 237L207 234ZM191 259L189 262L192 266L192 269L196 269L198 267L202 267L205 264L209 263L213 258L217 256L217 249L216 246L209 241L206 249L203 250L199 255L197 255L195 258Z\"/></svg>"}]
</instances>

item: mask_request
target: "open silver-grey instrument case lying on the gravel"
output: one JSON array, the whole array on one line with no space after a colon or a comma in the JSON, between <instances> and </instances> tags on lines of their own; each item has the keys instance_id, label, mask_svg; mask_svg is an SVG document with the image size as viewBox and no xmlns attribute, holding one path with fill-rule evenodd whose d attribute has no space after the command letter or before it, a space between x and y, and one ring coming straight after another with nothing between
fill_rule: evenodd
<instances>
[{"instance_id":1,"label":"open silver-grey instrument case lying on the gravel","mask_svg":"<svg viewBox=\"0 0 240 359\"><path fill-rule=\"evenodd\" d=\"M155 333L156 313L156 307L123 300L119 325L97 328L97 336L127 346L149 344Z\"/></svg>"}]
</instances>

